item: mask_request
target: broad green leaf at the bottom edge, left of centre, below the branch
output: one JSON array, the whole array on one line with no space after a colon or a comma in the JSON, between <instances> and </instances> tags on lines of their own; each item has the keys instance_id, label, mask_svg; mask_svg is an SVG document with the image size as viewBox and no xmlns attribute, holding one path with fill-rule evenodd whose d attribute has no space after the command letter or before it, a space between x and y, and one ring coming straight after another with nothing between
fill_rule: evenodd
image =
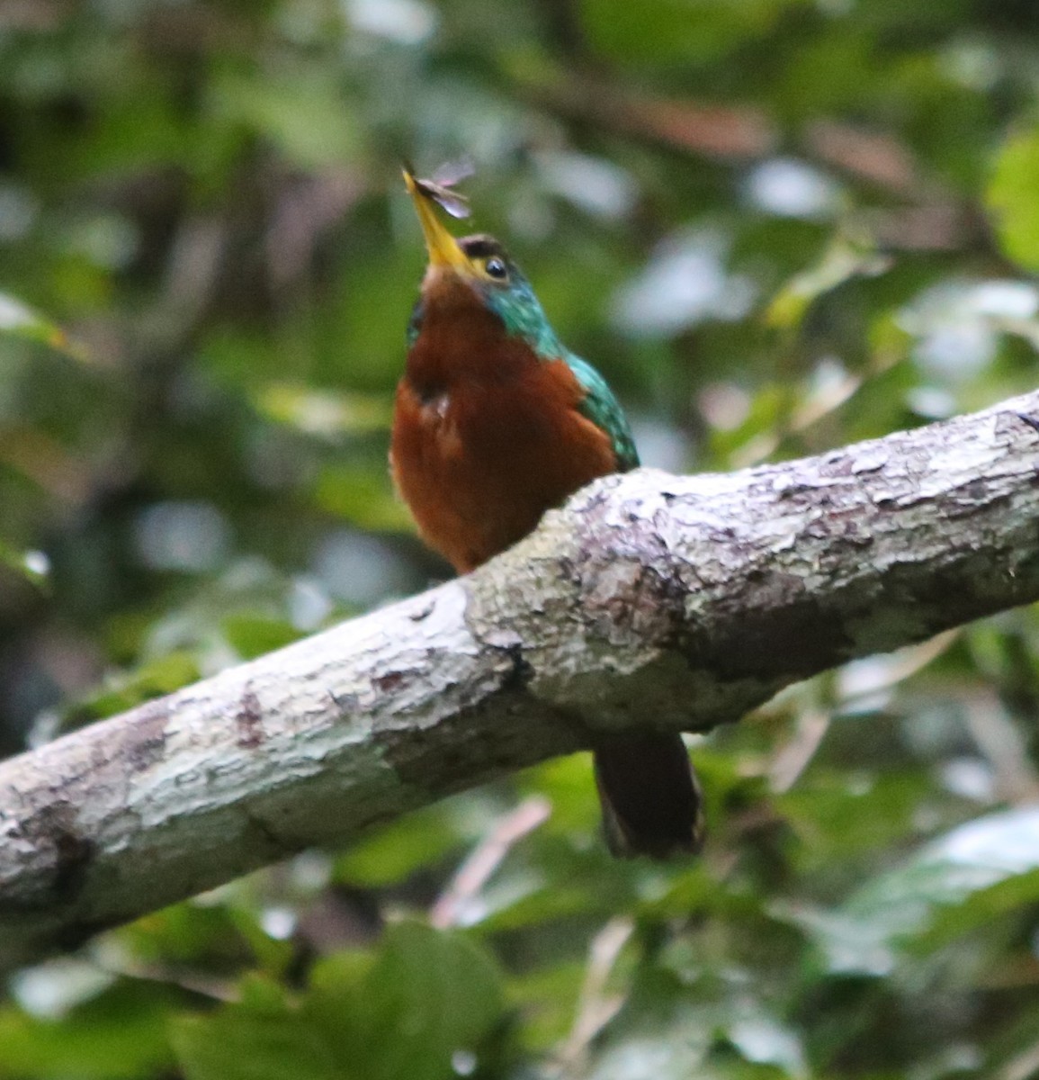
<instances>
[{"instance_id":1,"label":"broad green leaf at the bottom edge, left of centre, below the branch","mask_svg":"<svg viewBox=\"0 0 1039 1080\"><path fill-rule=\"evenodd\" d=\"M177 1021L189 1080L448 1080L501 1018L497 969L460 934L401 923L374 963L346 960L321 964L298 1002L251 980L241 1003Z\"/></svg>"}]
</instances>

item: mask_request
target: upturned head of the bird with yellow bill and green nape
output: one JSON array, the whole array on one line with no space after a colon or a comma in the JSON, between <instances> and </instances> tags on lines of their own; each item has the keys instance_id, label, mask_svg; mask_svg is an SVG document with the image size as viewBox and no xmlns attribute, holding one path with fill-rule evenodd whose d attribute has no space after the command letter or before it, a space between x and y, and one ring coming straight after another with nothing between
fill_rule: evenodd
<instances>
[{"instance_id":1,"label":"upturned head of the bird with yellow bill and green nape","mask_svg":"<svg viewBox=\"0 0 1039 1080\"><path fill-rule=\"evenodd\" d=\"M471 298L494 312L507 333L523 337L542 357L562 355L563 348L530 283L504 247L486 233L454 237L436 214L436 199L406 168L404 183L429 253L422 279L427 312L436 305L464 303Z\"/></svg>"}]
</instances>

